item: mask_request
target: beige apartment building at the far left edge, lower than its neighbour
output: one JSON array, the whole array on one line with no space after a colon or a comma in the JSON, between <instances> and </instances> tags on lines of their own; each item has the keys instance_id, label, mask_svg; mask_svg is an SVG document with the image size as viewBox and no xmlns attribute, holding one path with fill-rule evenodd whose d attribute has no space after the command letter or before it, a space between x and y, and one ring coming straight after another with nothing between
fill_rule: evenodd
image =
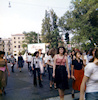
<instances>
[{"instance_id":1,"label":"beige apartment building at the far left edge, lower than its neighbour","mask_svg":"<svg viewBox=\"0 0 98 100\"><path fill-rule=\"evenodd\" d=\"M4 51L6 55L12 53L12 39L7 38L7 39L2 39L0 38L0 50Z\"/></svg>"}]
</instances>

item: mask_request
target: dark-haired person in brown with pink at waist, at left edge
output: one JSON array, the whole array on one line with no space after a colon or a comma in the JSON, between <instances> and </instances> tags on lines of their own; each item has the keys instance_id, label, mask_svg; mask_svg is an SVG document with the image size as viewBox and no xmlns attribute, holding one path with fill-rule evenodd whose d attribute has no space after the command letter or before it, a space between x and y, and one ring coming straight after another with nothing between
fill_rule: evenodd
<instances>
[{"instance_id":1,"label":"dark-haired person in brown with pink at waist, at left edge","mask_svg":"<svg viewBox=\"0 0 98 100\"><path fill-rule=\"evenodd\" d=\"M8 66L7 66L7 60L3 59L5 52L0 51L0 95L5 92L5 87L7 85L7 72L8 76L10 75Z\"/></svg>"}]
</instances>

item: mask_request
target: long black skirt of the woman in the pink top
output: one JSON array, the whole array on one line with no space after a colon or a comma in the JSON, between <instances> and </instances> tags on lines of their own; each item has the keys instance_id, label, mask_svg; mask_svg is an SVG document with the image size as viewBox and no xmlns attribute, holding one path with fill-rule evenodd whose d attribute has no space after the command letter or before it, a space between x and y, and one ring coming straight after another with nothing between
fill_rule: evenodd
<instances>
[{"instance_id":1,"label":"long black skirt of the woman in the pink top","mask_svg":"<svg viewBox=\"0 0 98 100\"><path fill-rule=\"evenodd\" d=\"M67 71L65 66L56 65L55 82L58 89L61 90L69 89Z\"/></svg>"}]
</instances>

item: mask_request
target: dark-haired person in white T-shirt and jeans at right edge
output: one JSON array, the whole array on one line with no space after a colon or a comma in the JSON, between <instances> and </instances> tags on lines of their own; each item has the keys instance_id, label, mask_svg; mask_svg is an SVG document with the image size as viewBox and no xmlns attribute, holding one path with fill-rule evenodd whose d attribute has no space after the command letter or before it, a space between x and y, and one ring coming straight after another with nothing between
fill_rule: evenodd
<instances>
[{"instance_id":1,"label":"dark-haired person in white T-shirt and jeans at right edge","mask_svg":"<svg viewBox=\"0 0 98 100\"><path fill-rule=\"evenodd\" d=\"M85 91L86 85L86 93ZM84 77L80 89L80 100L98 100L98 49L92 62L88 63L84 69Z\"/></svg>"}]
</instances>

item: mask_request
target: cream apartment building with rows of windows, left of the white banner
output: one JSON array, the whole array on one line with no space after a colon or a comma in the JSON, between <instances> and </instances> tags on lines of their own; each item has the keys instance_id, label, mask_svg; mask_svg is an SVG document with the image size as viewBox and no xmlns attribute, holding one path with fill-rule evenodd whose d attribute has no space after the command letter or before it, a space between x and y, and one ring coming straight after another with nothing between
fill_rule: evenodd
<instances>
[{"instance_id":1,"label":"cream apartment building with rows of windows, left of the white banner","mask_svg":"<svg viewBox=\"0 0 98 100\"><path fill-rule=\"evenodd\" d=\"M12 35L12 48L13 55L18 56L19 52L23 51L22 42L24 41L24 34L14 34Z\"/></svg>"}]
</instances>

